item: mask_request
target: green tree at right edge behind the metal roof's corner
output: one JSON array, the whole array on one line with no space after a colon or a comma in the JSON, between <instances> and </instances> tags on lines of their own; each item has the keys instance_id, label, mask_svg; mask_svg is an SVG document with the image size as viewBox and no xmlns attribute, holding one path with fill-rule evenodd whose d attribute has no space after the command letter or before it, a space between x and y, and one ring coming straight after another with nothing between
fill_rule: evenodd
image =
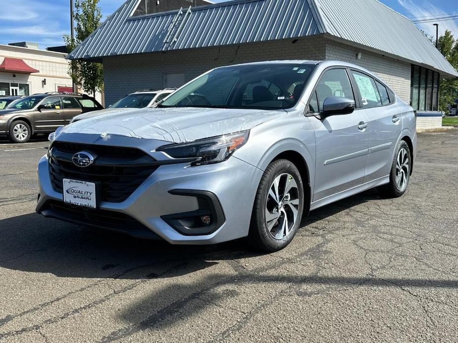
<instances>
[{"instance_id":1,"label":"green tree at right edge behind the metal roof's corner","mask_svg":"<svg viewBox=\"0 0 458 343\"><path fill-rule=\"evenodd\" d=\"M455 40L452 32L447 30L439 38L438 49L449 63L458 70L458 40ZM458 98L458 79L441 80L439 92L439 110L448 114L449 104L453 104Z\"/></svg>"}]
</instances>

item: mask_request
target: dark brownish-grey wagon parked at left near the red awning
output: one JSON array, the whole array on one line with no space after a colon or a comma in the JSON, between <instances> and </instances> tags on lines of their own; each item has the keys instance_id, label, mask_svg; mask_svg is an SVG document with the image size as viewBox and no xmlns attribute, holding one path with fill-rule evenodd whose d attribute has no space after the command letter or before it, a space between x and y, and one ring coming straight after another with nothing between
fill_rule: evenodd
<instances>
[{"instance_id":1,"label":"dark brownish-grey wagon parked at left near the red awning","mask_svg":"<svg viewBox=\"0 0 458 343\"><path fill-rule=\"evenodd\" d=\"M102 110L91 96L79 93L44 93L24 96L0 110L0 136L25 143L33 134L51 133L73 117Z\"/></svg>"}]
</instances>

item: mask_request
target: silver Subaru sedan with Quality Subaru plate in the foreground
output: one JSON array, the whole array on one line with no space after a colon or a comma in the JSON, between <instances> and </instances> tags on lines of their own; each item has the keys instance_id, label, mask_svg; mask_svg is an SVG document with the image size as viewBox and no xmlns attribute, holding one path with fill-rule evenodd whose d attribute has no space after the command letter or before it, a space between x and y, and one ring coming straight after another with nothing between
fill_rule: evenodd
<instances>
[{"instance_id":1,"label":"silver Subaru sedan with Quality Subaru plate in the foreground","mask_svg":"<svg viewBox=\"0 0 458 343\"><path fill-rule=\"evenodd\" d=\"M415 114L376 76L335 61L211 70L158 108L59 129L39 163L48 217L212 244L286 247L303 215L373 187L398 197Z\"/></svg>"}]
</instances>

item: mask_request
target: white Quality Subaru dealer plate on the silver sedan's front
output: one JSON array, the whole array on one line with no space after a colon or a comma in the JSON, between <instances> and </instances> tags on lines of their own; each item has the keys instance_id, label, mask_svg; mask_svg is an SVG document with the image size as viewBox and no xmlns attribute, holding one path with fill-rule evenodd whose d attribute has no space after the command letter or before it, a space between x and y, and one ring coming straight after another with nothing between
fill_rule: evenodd
<instances>
[{"instance_id":1,"label":"white Quality Subaru dealer plate on the silver sedan's front","mask_svg":"<svg viewBox=\"0 0 458 343\"><path fill-rule=\"evenodd\" d=\"M67 204L96 208L96 184L63 179L63 201Z\"/></svg>"}]
</instances>

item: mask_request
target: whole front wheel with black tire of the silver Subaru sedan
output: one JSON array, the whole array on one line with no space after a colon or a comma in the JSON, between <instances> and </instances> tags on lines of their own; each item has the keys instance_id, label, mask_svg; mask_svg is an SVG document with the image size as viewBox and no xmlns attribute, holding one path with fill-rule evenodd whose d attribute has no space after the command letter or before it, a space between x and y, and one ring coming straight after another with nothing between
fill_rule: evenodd
<instances>
[{"instance_id":1,"label":"whole front wheel with black tire of the silver Subaru sedan","mask_svg":"<svg viewBox=\"0 0 458 343\"><path fill-rule=\"evenodd\" d=\"M259 183L249 239L256 250L276 252L288 246L304 212L304 185L288 160L272 162Z\"/></svg>"}]
</instances>

